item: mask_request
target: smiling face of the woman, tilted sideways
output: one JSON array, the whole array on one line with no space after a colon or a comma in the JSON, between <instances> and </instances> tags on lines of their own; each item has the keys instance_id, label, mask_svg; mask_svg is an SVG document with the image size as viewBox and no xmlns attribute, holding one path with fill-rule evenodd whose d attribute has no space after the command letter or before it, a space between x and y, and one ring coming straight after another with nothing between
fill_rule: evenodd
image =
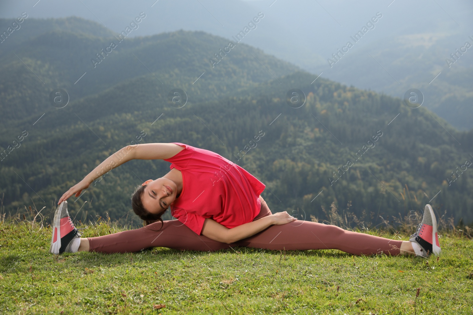
<instances>
[{"instance_id":1,"label":"smiling face of the woman, tilted sideways","mask_svg":"<svg viewBox=\"0 0 473 315\"><path fill-rule=\"evenodd\" d=\"M176 198L177 185L171 179L163 177L148 179L141 185L147 185L141 196L141 202L150 213L164 212Z\"/></svg>"}]
</instances>

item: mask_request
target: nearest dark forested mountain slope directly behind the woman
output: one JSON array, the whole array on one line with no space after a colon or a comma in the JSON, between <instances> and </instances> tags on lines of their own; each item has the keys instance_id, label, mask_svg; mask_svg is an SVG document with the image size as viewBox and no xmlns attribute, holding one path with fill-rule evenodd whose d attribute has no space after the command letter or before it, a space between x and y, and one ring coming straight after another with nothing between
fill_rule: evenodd
<instances>
[{"instance_id":1,"label":"nearest dark forested mountain slope directly behind the woman","mask_svg":"<svg viewBox=\"0 0 473 315\"><path fill-rule=\"evenodd\" d=\"M418 210L441 190L433 201L439 210L472 219L468 171L450 186L447 182L455 179L456 166L471 160L462 150L473 145L471 133L456 132L434 116L450 136L425 109L329 81L310 85L311 77L299 72L279 78L281 84L259 86L259 94L240 92L243 96L180 109L170 106L164 93L141 93L155 85L151 77L73 102L29 127L27 141L2 161L7 209L29 204L30 197L52 203L108 155L145 133L140 143L184 142L241 164L266 183L264 196L275 211L299 208L306 216L323 216L321 205L335 201L344 207L351 201L356 213L397 215ZM300 87L307 94L304 106L289 107L281 85ZM250 143L260 131L260 141ZM87 200L89 215L122 217L130 209L133 186L167 169L162 161L129 162L94 183L71 208L78 210Z\"/></svg>"}]
</instances>

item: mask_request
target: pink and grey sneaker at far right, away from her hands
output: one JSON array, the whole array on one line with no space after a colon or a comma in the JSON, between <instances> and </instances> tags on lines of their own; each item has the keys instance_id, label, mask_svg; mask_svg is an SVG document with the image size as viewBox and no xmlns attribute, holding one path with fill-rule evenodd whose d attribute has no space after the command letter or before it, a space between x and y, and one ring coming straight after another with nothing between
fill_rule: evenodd
<instances>
[{"instance_id":1,"label":"pink and grey sneaker at far right, away from her hands","mask_svg":"<svg viewBox=\"0 0 473 315\"><path fill-rule=\"evenodd\" d=\"M440 254L440 244L437 235L437 220L430 204L425 205L424 217L417 231L409 238L411 242L419 244L422 256Z\"/></svg>"}]
</instances>

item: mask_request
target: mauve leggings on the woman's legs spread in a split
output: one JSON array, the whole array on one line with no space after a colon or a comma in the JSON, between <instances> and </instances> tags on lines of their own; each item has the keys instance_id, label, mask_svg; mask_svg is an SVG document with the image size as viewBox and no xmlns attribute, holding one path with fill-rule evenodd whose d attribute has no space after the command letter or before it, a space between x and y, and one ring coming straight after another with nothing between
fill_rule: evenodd
<instances>
[{"instance_id":1,"label":"mauve leggings on the woman's legs spread in a split","mask_svg":"<svg viewBox=\"0 0 473 315\"><path fill-rule=\"evenodd\" d=\"M263 198L261 211L254 218L272 214ZM365 233L343 230L335 225L310 221L292 221L272 225L254 236L226 244L197 235L180 221L155 222L136 230L88 238L90 251L99 253L138 252L149 247L168 247L181 250L216 251L235 246L271 250L339 249L353 255L385 253L399 255L401 240L380 238ZM160 230L159 230L160 229Z\"/></svg>"}]
</instances>

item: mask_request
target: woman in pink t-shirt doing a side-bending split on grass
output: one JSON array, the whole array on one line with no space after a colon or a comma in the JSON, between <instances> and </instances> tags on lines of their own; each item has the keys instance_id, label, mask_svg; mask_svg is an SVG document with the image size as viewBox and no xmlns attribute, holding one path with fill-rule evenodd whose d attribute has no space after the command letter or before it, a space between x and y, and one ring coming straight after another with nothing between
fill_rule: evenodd
<instances>
[{"instance_id":1,"label":"woman in pink t-shirt doing a side-bending split on grass","mask_svg":"<svg viewBox=\"0 0 473 315\"><path fill-rule=\"evenodd\" d=\"M131 197L133 211L146 225L80 238L81 233L70 220L66 199L78 197L106 171L132 159L171 162L171 170L165 176L145 181ZM352 255L427 257L440 253L437 221L429 204L417 232L409 241L402 241L297 221L287 212L272 214L260 196L264 187L242 167L208 150L182 143L129 145L61 196L54 215L50 252L126 253L149 247L215 251L245 246L270 250L339 249ZM177 220L161 219L168 207Z\"/></svg>"}]
</instances>

